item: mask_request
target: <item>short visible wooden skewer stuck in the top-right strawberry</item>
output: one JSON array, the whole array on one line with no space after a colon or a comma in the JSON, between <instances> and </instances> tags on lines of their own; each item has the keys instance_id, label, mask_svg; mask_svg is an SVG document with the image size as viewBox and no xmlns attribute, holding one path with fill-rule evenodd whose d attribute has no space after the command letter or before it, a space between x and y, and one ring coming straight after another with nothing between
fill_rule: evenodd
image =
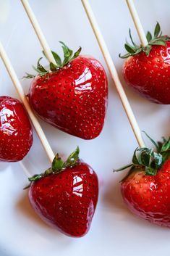
<instances>
[{"instance_id":1,"label":"short visible wooden skewer stuck in the top-right strawberry","mask_svg":"<svg viewBox=\"0 0 170 256\"><path fill-rule=\"evenodd\" d=\"M135 4L134 4L133 0L126 0L126 1L127 1L127 6L129 8L129 12L132 16L132 20L135 24L137 34L140 38L140 42L141 42L142 46L145 47L148 45L148 40L146 39L145 32L143 30L143 26L140 22L140 17L137 14L137 10L135 8Z\"/></svg>"}]
</instances>

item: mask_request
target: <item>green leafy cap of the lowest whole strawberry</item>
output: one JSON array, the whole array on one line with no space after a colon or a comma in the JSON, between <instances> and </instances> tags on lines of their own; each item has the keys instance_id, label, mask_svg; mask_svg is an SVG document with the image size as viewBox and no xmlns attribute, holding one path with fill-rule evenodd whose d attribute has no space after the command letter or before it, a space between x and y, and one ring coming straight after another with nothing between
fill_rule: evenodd
<instances>
[{"instance_id":1,"label":"green leafy cap of the lowest whole strawberry","mask_svg":"<svg viewBox=\"0 0 170 256\"><path fill-rule=\"evenodd\" d=\"M61 157L59 156L59 154L56 154L56 157L54 157L54 160L52 162L51 168L48 168L44 173L35 174L34 176L28 178L28 181L30 181L30 184L26 186L25 189L29 188L31 183L34 181L38 181L41 178L49 176L54 173L61 173L66 168L72 168L75 165L78 165L78 163L80 162L79 152L80 152L80 149L77 146L77 149L75 149L75 151L69 155L69 157L65 162L61 160Z\"/></svg>"}]
</instances>

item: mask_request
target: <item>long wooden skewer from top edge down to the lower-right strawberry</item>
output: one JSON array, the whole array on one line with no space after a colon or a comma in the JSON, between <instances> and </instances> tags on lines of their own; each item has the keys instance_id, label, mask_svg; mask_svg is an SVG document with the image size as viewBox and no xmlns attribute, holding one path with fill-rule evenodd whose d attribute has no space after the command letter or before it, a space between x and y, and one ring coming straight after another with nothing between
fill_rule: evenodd
<instances>
[{"instance_id":1,"label":"long wooden skewer from top edge down to the lower-right strawberry","mask_svg":"<svg viewBox=\"0 0 170 256\"><path fill-rule=\"evenodd\" d=\"M124 107L124 110L127 114L127 117L129 119L129 123L132 127L132 131L135 134L135 137L137 139L137 143L139 144L140 147L144 147L145 144L143 142L143 138L141 136L140 128L137 125L137 121L135 119L135 115L132 112L132 108L130 107L130 104L128 102L127 96L124 92L124 88L122 86L122 83L119 80L118 74L116 72L116 67L114 66L114 62L111 59L111 55L109 54L109 50L107 49L106 43L103 39L103 36L101 34L101 31L98 27L98 23L95 20L95 16L93 14L93 11L90 7L90 4L88 0L82 0L82 5L85 8L85 12L88 15L88 20L90 21L90 25L93 28L93 32L95 33L95 37L98 41L98 44L101 48L103 57L106 61L106 64L109 68L109 72L111 74L111 78L114 80L114 84L116 86L116 90L119 94L119 97L121 99L122 105Z\"/></svg>"}]
</instances>

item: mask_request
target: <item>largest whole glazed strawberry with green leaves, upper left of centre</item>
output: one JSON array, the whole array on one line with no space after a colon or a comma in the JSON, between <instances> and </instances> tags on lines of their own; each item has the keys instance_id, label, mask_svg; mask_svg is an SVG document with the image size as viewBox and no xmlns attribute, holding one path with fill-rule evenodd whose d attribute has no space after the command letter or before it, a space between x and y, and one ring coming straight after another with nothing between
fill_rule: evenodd
<instances>
[{"instance_id":1,"label":"largest whole glazed strawberry with green leaves, upper left of centre","mask_svg":"<svg viewBox=\"0 0 170 256\"><path fill-rule=\"evenodd\" d=\"M93 57L79 56L81 48L72 57L62 43L64 61L51 51L56 65L46 70L38 60L37 76L30 86L30 104L46 122L61 131L82 139L94 139L101 133L106 115L108 87L101 63Z\"/></svg>"}]
</instances>

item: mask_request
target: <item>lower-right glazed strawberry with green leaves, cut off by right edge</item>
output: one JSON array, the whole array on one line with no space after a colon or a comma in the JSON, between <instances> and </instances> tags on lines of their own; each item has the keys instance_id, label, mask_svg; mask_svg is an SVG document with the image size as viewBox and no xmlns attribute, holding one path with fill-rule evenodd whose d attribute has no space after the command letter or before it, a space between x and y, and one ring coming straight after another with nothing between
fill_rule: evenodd
<instances>
[{"instance_id":1,"label":"lower-right glazed strawberry with green leaves, cut off by right edge","mask_svg":"<svg viewBox=\"0 0 170 256\"><path fill-rule=\"evenodd\" d=\"M170 228L170 137L153 143L157 152L135 150L131 169L121 183L122 197L135 215Z\"/></svg>"}]
</instances>

